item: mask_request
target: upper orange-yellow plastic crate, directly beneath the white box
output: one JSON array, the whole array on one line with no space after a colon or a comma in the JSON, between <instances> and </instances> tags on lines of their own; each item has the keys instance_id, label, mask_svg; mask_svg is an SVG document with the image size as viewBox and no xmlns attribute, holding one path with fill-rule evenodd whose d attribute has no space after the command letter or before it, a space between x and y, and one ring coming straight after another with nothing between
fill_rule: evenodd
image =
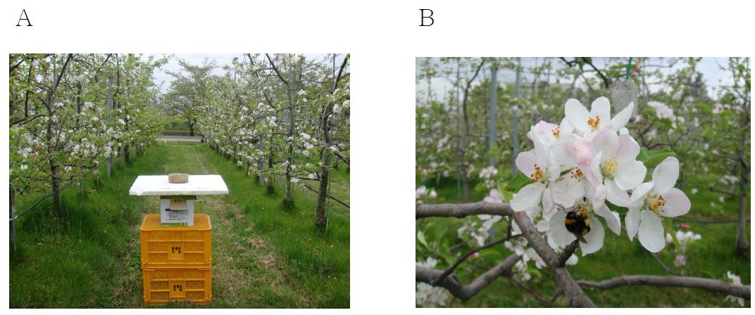
<instances>
[{"instance_id":1,"label":"upper orange-yellow plastic crate, directly beneath the white box","mask_svg":"<svg viewBox=\"0 0 755 315\"><path fill-rule=\"evenodd\" d=\"M210 265L210 216L194 215L194 226L164 227L160 216L148 214L140 228L142 265Z\"/></svg>"}]
</instances>

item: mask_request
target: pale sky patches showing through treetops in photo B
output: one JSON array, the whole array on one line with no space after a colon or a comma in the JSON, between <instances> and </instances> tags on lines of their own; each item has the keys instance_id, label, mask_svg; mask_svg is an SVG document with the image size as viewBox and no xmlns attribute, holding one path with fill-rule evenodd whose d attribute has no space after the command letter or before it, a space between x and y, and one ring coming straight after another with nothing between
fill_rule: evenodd
<instances>
[{"instance_id":1,"label":"pale sky patches showing through treetops in photo B","mask_svg":"<svg viewBox=\"0 0 755 315\"><path fill-rule=\"evenodd\" d=\"M415 67L417 70L421 69L421 63L426 60L426 57L418 57L415 60ZM441 63L437 58L432 58L433 63L436 63L437 65L440 65ZM570 59L570 58L567 58ZM603 69L603 67L606 65L606 60L604 58L595 57L593 58L593 63L598 69ZM527 68L530 66L535 66L535 63L542 63L543 58L535 58L535 57L522 57L522 67ZM661 59L653 59L651 60L651 63L663 63L667 65L667 60L661 60ZM720 66L726 67L728 64L726 57L705 57L701 60L700 63L698 63L698 71L703 74L703 78L705 81L706 86L708 87L708 95L711 97L716 96L716 89L720 87L721 85L732 85L732 77L731 73L723 71L720 69ZM720 65L720 66L719 66ZM561 61L556 62L556 69L559 67L564 66L564 64ZM676 66L673 68L664 68L661 71L664 72L664 75L669 74L670 72L676 71L676 69L679 69L681 66L680 63L677 63ZM448 67L452 67L451 64L448 65ZM589 66L586 66L589 68ZM455 69L455 68L454 68ZM463 70L462 70L463 71ZM467 70L468 76L472 75L472 69ZM489 73L488 73L489 75ZM590 77L596 75L594 73L587 73L585 76ZM522 77L525 81L531 81L530 79L533 77L533 75L530 74L522 74ZM485 78L482 75L482 72L478 77L476 78L475 82L479 84L479 82L485 80ZM501 69L498 71L498 81L503 82L504 84L514 84L516 80L516 72L513 71L513 69ZM553 79L551 80L552 83L555 83ZM473 84L475 85L475 84ZM448 79L446 78L433 78L433 80L430 81L430 89L433 92L433 97L439 97L442 96L446 90L452 89L452 84ZM650 86L650 90L657 90L660 86ZM422 97L424 98L427 93L427 81L423 80L420 82L417 82L416 89L418 91L422 91Z\"/></svg>"}]
</instances>

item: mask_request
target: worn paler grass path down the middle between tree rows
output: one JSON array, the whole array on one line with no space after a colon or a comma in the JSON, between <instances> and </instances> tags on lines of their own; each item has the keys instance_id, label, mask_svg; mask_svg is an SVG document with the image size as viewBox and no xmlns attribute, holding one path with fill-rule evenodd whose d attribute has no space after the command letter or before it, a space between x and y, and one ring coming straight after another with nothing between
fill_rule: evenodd
<instances>
[{"instance_id":1,"label":"worn paler grass path down the middle between tree rows","mask_svg":"<svg viewBox=\"0 0 755 315\"><path fill-rule=\"evenodd\" d=\"M163 173L217 174L196 151L196 145L168 144L171 148ZM176 150L173 150L176 148ZM143 214L159 211L159 197L148 197ZM207 213L212 225L213 301L210 307L308 307L306 295L287 280L282 261L253 226L243 226L245 214L231 196L199 196L195 213ZM248 222L248 221L245 221ZM243 231L245 237L239 236ZM124 258L128 268L119 279L113 307L142 307L139 225L135 242ZM251 236L250 236L251 235ZM136 265L134 265L136 264ZM137 266L134 268L134 266Z\"/></svg>"}]
</instances>

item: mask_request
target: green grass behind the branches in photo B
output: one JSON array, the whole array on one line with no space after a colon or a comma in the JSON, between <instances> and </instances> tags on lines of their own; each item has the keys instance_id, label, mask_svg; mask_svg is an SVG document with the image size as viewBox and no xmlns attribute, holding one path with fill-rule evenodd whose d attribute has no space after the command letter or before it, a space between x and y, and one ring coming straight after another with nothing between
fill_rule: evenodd
<instances>
[{"instance_id":1,"label":"green grass behind the branches in photo B","mask_svg":"<svg viewBox=\"0 0 755 315\"><path fill-rule=\"evenodd\" d=\"M477 169L479 170L479 168ZM501 168L499 171L499 175L505 174L503 177L510 176L510 170ZM703 183L710 180L697 179L697 181L686 183L684 190L692 200L692 209L689 215L684 216L683 219L700 221L736 219L738 200L729 198L721 203L718 200L720 194L704 189ZM426 185L428 188L436 189L438 197L430 200L432 203L456 203L458 200L456 179L448 178L436 181L433 178L421 181L418 178L416 185ZM474 182L471 187L475 187ZM698 188L698 194L691 194L690 190L692 187ZM482 200L485 195L485 192L470 189L470 202ZM711 201L715 202L716 206L710 206ZM747 204L750 204L749 194ZM423 219L417 222L417 229L418 231L424 231L428 242L439 241L444 243L445 246L453 246L460 243L456 230L461 225L462 220L455 218ZM501 223L498 225L504 226ZM688 248L688 263L691 276L723 280L726 276L726 271L732 271L741 277L742 283L750 283L750 259L742 260L735 258L736 225L734 223L703 224L691 222L689 225L691 225L691 231L702 235L702 240L692 243ZM747 231L748 233L750 231L749 224L747 225ZM498 233L504 232L500 231ZM501 236L498 235L497 237ZM451 254L453 257L458 257L458 255L469 250L469 246L460 246L458 249L451 251ZM606 231L606 240L599 252L587 255L586 257L582 257L579 251L577 253L580 255L579 263L578 265L570 266L569 271L578 280L606 280L630 274L667 275L652 256L643 249L639 241L635 239L633 242L630 242L625 232L622 232L620 236L616 236ZM428 255L427 249L420 249L418 245L417 255L418 259L426 258ZM507 257L507 255L510 255L510 251L504 246L485 249L480 252L478 258L465 261L455 274L460 278L461 283L470 283L475 277L478 277L487 268L495 265L502 258ZM439 255L435 255L434 258L439 258ZM665 264L672 268L673 258L673 255L668 252L662 255L662 260ZM452 262L439 259L436 268L446 268ZM535 269L534 263L530 263L529 270L532 271L533 269ZM550 277L547 270L539 272L541 273L541 277L533 277L527 285L545 298L550 298L557 289L556 283L553 277ZM738 307L738 304L724 302L723 299L726 295L699 289L633 286L612 290L584 290L600 307ZM745 306L749 305L750 301L746 301ZM529 293L519 289L510 280L507 280L506 277L500 277L469 301L463 302L458 299L452 299L449 306L541 307L543 304L533 298L532 295L529 295ZM556 300L554 306L568 306L568 301L563 297L559 298Z\"/></svg>"}]
</instances>

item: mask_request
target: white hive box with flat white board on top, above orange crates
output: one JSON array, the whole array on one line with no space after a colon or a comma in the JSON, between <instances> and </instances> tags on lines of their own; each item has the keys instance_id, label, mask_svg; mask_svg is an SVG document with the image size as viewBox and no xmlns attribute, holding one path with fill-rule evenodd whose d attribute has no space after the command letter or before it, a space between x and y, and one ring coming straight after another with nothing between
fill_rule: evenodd
<instances>
[{"instance_id":1,"label":"white hive box with flat white board on top, above orange crates","mask_svg":"<svg viewBox=\"0 0 755 315\"><path fill-rule=\"evenodd\" d=\"M167 175L138 176L128 194L160 196L160 225L193 226L194 200L200 194L228 194L220 175L190 175L189 182L168 182Z\"/></svg>"}]
</instances>

